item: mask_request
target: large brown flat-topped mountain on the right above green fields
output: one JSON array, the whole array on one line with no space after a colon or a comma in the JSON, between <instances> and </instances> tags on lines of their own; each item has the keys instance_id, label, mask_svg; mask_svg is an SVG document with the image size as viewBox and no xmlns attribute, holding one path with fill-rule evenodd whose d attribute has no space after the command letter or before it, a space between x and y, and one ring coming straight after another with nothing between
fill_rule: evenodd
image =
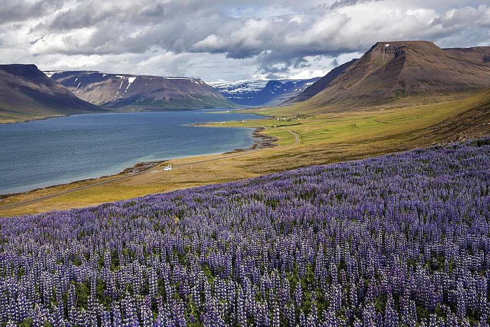
<instances>
[{"instance_id":1,"label":"large brown flat-topped mountain on the right above green fields","mask_svg":"<svg viewBox=\"0 0 490 327\"><path fill-rule=\"evenodd\" d=\"M378 42L305 104L363 106L476 92L489 85L490 47L441 49L427 41Z\"/></svg>"}]
</instances>

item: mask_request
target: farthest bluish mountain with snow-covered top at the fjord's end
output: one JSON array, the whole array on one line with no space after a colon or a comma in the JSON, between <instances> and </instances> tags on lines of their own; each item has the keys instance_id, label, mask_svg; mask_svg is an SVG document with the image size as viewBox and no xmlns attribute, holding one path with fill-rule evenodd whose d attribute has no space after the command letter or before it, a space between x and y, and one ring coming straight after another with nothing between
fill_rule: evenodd
<instances>
[{"instance_id":1,"label":"farthest bluish mountain with snow-covered top at the fjord's end","mask_svg":"<svg viewBox=\"0 0 490 327\"><path fill-rule=\"evenodd\" d=\"M274 106L299 95L319 77L311 79L245 80L209 83L227 99L243 106Z\"/></svg>"}]
</instances>

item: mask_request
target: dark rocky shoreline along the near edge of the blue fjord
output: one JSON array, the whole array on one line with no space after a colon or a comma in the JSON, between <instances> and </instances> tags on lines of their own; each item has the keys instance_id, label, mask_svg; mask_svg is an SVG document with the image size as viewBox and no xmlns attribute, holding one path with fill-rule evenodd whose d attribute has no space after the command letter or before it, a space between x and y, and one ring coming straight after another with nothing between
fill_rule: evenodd
<instances>
[{"instance_id":1,"label":"dark rocky shoreline along the near edge of the blue fjord","mask_svg":"<svg viewBox=\"0 0 490 327\"><path fill-rule=\"evenodd\" d=\"M66 117L66 116L65 116ZM48 119L48 118L47 118ZM196 123L192 124L193 126L202 126L204 127L206 123ZM206 126L209 127L209 126ZM275 147L277 146L275 141L277 141L276 138L270 137L267 135L260 134L261 131L264 130L264 127L257 127L255 128L251 134L253 138L256 138L257 140L254 140L252 145L250 145L249 148L245 149L233 149L231 151L223 152L221 154L231 154L231 153L239 153L239 152L246 152L246 151L251 151L251 150L258 150L258 149L265 149L265 148L270 148L270 147ZM213 155L213 154L207 154L207 155ZM204 155L204 156L207 156ZM183 158L192 158L193 156L186 156ZM182 159L182 158L173 158L173 159ZM33 188L24 192L17 192L17 193L5 193L5 194L0 194L0 205L1 203L5 200L8 199L12 196L18 196L18 195L25 195L29 193L34 193L37 191L42 191L42 190L49 190L51 188L55 187L67 187L67 186L73 186L75 184L79 183L84 183L84 182L92 182L92 181L98 181L100 179L105 179L105 178L111 178L111 177L116 177L119 175L135 175L138 173L141 173L143 171L146 171L150 168L153 168L155 166L161 165L162 163L170 162L172 159L166 159L166 160L158 160L158 161L149 161L149 162L141 162L141 163L136 163L131 167L124 168L122 171L115 173L115 174L110 174L110 175L103 175L103 176L98 176L98 177L93 177L93 178L86 178L86 179L81 179L81 180L76 180L73 182L68 182L68 183L62 183L62 184L55 184L55 185L49 185L46 187L37 187ZM110 181L110 180L108 180Z\"/></svg>"}]
</instances>

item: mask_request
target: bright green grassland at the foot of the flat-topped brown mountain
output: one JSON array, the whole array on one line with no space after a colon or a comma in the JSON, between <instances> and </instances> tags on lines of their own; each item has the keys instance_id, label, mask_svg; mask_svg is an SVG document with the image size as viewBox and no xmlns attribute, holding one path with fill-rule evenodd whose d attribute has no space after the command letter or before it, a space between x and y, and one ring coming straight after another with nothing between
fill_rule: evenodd
<instances>
[{"instance_id":1,"label":"bright green grassland at the foot of the flat-topped brown mountain","mask_svg":"<svg viewBox=\"0 0 490 327\"><path fill-rule=\"evenodd\" d=\"M221 126L267 127L264 134L275 136L280 144L292 142L285 130L294 131L304 145L334 144L337 142L362 142L373 138L392 138L398 140L405 133L416 132L441 122L449 117L488 105L490 90L457 100L446 100L428 104L400 104L379 106L349 111L331 111L298 116L296 109L286 107L277 109L247 110L274 116L260 122L230 122ZM326 111L329 108L324 108ZM286 115L289 114L289 115ZM437 135L434 135L437 140Z\"/></svg>"}]
</instances>

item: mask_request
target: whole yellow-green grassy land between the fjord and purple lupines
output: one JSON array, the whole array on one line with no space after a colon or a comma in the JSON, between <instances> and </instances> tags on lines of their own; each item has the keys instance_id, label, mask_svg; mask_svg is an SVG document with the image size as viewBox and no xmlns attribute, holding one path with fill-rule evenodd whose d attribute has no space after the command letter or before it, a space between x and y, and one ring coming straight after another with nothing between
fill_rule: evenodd
<instances>
[{"instance_id":1,"label":"whole yellow-green grassy land between the fjord and purple lupines","mask_svg":"<svg viewBox=\"0 0 490 327\"><path fill-rule=\"evenodd\" d=\"M20 194L0 202L0 216L91 206L149 193L228 182L312 164L360 159L435 142L488 135L490 88L456 100L444 98L437 103L425 99L417 104L397 103L357 110L321 108L301 116L295 111L291 107L251 110L276 117L208 125L216 128L265 127L261 133L277 138L276 147L246 151L239 156L213 155L172 160L176 165L172 172L153 168L139 175L69 194L56 195L76 188L76 185ZM202 160L212 161L198 163ZM2 205L45 195L55 196L14 208L1 208Z\"/></svg>"}]
</instances>

